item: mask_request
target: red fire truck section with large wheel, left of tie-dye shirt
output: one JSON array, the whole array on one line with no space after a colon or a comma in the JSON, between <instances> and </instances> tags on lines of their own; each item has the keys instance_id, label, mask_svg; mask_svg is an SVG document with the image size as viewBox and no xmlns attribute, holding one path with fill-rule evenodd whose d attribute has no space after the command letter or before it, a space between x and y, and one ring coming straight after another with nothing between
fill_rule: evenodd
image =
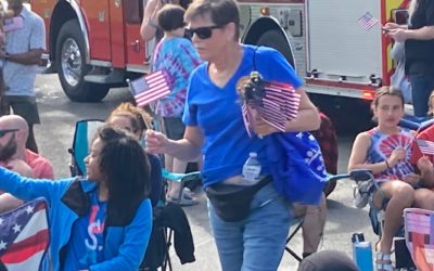
<instances>
[{"instance_id":1,"label":"red fire truck section with large wheel, left of tie-dye shirt","mask_svg":"<svg viewBox=\"0 0 434 271\"><path fill-rule=\"evenodd\" d=\"M44 20L50 69L71 100L100 101L148 72L152 50L139 34L143 0L35 0L31 9Z\"/></svg>"}]
</instances>

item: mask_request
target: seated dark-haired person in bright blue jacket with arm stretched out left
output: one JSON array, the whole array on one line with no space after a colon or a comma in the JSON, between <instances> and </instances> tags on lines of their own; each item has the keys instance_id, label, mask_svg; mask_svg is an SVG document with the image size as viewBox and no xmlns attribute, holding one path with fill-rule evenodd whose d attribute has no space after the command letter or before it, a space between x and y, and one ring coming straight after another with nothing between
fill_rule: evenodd
<instances>
[{"instance_id":1,"label":"seated dark-haired person in bright blue jacket with arm stretched out left","mask_svg":"<svg viewBox=\"0 0 434 271\"><path fill-rule=\"evenodd\" d=\"M148 156L129 133L103 126L85 163L86 178L55 182L0 167L0 189L48 202L50 258L43 270L137 271L152 229Z\"/></svg>"}]
</instances>

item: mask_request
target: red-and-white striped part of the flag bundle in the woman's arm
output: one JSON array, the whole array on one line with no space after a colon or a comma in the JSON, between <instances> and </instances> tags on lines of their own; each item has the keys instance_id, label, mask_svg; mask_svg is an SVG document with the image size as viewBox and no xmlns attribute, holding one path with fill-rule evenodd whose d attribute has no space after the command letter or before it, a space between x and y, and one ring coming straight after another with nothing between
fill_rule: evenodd
<instances>
[{"instance_id":1,"label":"red-and-white striped part of the flag bundle in the woman's arm","mask_svg":"<svg viewBox=\"0 0 434 271\"><path fill-rule=\"evenodd\" d=\"M263 98L259 101L257 99L247 99L247 96ZM280 131L285 131L286 120L294 119L297 116L301 95L295 92L291 85L264 81L264 95L252 95L244 92L243 100L245 102L241 109L244 126L248 136L252 136L255 113L270 126Z\"/></svg>"}]
</instances>

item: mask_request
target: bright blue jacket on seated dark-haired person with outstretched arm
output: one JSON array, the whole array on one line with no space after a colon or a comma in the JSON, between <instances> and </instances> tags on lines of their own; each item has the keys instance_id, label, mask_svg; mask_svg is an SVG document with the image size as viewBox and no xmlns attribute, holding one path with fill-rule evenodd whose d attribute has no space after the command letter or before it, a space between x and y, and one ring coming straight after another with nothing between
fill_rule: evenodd
<instances>
[{"instance_id":1,"label":"bright blue jacket on seated dark-haired person with outstretched arm","mask_svg":"<svg viewBox=\"0 0 434 271\"><path fill-rule=\"evenodd\" d=\"M24 201L44 197L49 205L50 254L44 259L42 270L61 270L66 256L74 222L89 210L89 198L98 193L94 182L79 179L59 181L23 178L20 175L0 167L0 190ZM152 230L152 207L145 198L136 210L131 221L116 218L106 224L103 262L93 264L89 270L136 271L144 257ZM141 236L141 237L138 237Z\"/></svg>"}]
</instances>

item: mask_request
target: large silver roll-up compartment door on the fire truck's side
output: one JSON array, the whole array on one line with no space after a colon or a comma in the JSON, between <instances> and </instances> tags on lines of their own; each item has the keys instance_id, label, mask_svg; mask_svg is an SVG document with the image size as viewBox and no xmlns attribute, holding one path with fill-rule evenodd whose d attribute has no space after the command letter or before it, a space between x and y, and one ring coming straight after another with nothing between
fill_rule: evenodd
<instances>
[{"instance_id":1,"label":"large silver roll-up compartment door on the fire truck's side","mask_svg":"<svg viewBox=\"0 0 434 271\"><path fill-rule=\"evenodd\" d=\"M379 0L307 1L308 67L318 79L368 82L382 75L381 7ZM379 22L370 29L358 21L370 13Z\"/></svg>"}]
</instances>

